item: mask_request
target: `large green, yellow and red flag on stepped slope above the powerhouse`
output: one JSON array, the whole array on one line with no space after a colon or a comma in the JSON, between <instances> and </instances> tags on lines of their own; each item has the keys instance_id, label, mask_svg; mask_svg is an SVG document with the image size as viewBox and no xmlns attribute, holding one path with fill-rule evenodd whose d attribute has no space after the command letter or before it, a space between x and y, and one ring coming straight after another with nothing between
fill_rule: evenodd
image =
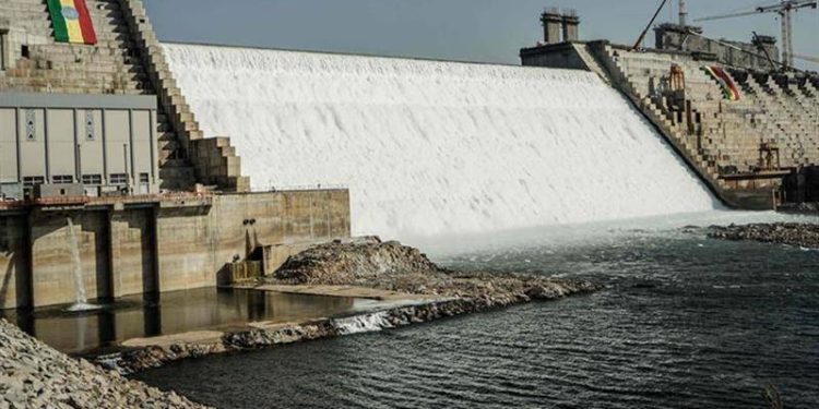
<instances>
[{"instance_id":1,"label":"large green, yellow and red flag on stepped slope above the powerhouse","mask_svg":"<svg viewBox=\"0 0 819 409\"><path fill-rule=\"evenodd\" d=\"M97 44L85 0L48 0L54 36L59 43Z\"/></svg>"}]
</instances>

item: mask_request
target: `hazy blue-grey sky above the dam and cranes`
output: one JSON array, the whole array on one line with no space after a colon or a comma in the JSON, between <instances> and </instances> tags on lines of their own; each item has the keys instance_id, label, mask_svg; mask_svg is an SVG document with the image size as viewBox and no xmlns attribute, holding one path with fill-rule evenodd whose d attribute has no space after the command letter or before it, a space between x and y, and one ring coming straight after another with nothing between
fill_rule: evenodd
<instances>
[{"instance_id":1,"label":"hazy blue-grey sky above the dam and cranes","mask_svg":"<svg viewBox=\"0 0 819 409\"><path fill-rule=\"evenodd\" d=\"M633 43L658 0L144 0L163 40L520 63L546 5L577 9L584 39ZM692 17L776 0L689 0ZM661 21L676 20L676 1ZM775 15L703 23L714 37L779 37ZM797 13L797 53L819 57L819 10ZM653 44L653 35L651 36ZM819 70L819 64L800 63Z\"/></svg>"}]
</instances>

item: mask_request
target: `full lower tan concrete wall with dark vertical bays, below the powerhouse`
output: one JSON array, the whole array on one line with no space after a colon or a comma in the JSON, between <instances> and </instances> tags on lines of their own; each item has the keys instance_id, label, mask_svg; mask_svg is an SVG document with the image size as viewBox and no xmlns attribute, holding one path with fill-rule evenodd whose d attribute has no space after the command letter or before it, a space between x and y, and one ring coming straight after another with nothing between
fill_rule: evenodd
<instances>
[{"instance_id":1,"label":"full lower tan concrete wall with dark vertical bays, below the powerhouse","mask_svg":"<svg viewBox=\"0 0 819 409\"><path fill-rule=\"evenodd\" d=\"M310 244L349 237L351 226L344 190L0 212L0 308L75 300L69 217L90 299L213 287L254 248L272 246L277 268Z\"/></svg>"}]
</instances>

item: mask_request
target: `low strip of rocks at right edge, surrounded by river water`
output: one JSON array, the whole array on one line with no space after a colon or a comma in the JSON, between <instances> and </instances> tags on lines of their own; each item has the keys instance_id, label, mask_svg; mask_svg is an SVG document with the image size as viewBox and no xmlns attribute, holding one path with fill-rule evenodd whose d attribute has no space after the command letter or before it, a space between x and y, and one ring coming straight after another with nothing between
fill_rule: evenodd
<instances>
[{"instance_id":1,"label":"low strip of rocks at right edge, surrounded by river water","mask_svg":"<svg viewBox=\"0 0 819 409\"><path fill-rule=\"evenodd\" d=\"M819 249L819 225L776 222L709 227L708 237L721 240L752 240L765 243Z\"/></svg>"}]
</instances>

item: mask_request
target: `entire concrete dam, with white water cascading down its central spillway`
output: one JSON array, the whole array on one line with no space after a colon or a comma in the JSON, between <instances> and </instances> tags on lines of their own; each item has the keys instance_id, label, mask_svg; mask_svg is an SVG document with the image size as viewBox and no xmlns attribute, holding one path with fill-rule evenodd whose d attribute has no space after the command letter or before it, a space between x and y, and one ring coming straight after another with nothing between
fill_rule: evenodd
<instances>
[{"instance_id":1,"label":"entire concrete dam, with white water cascading down its central spillway","mask_svg":"<svg viewBox=\"0 0 819 409\"><path fill-rule=\"evenodd\" d=\"M61 3L0 2L3 308L253 279L351 236L819 192L819 82L764 72L775 61L753 45L686 50L688 28L662 25L657 49L637 50L580 40L577 15L547 11L546 43L500 65L163 44L141 1L87 3L69 10L85 25L72 38Z\"/></svg>"}]
</instances>

